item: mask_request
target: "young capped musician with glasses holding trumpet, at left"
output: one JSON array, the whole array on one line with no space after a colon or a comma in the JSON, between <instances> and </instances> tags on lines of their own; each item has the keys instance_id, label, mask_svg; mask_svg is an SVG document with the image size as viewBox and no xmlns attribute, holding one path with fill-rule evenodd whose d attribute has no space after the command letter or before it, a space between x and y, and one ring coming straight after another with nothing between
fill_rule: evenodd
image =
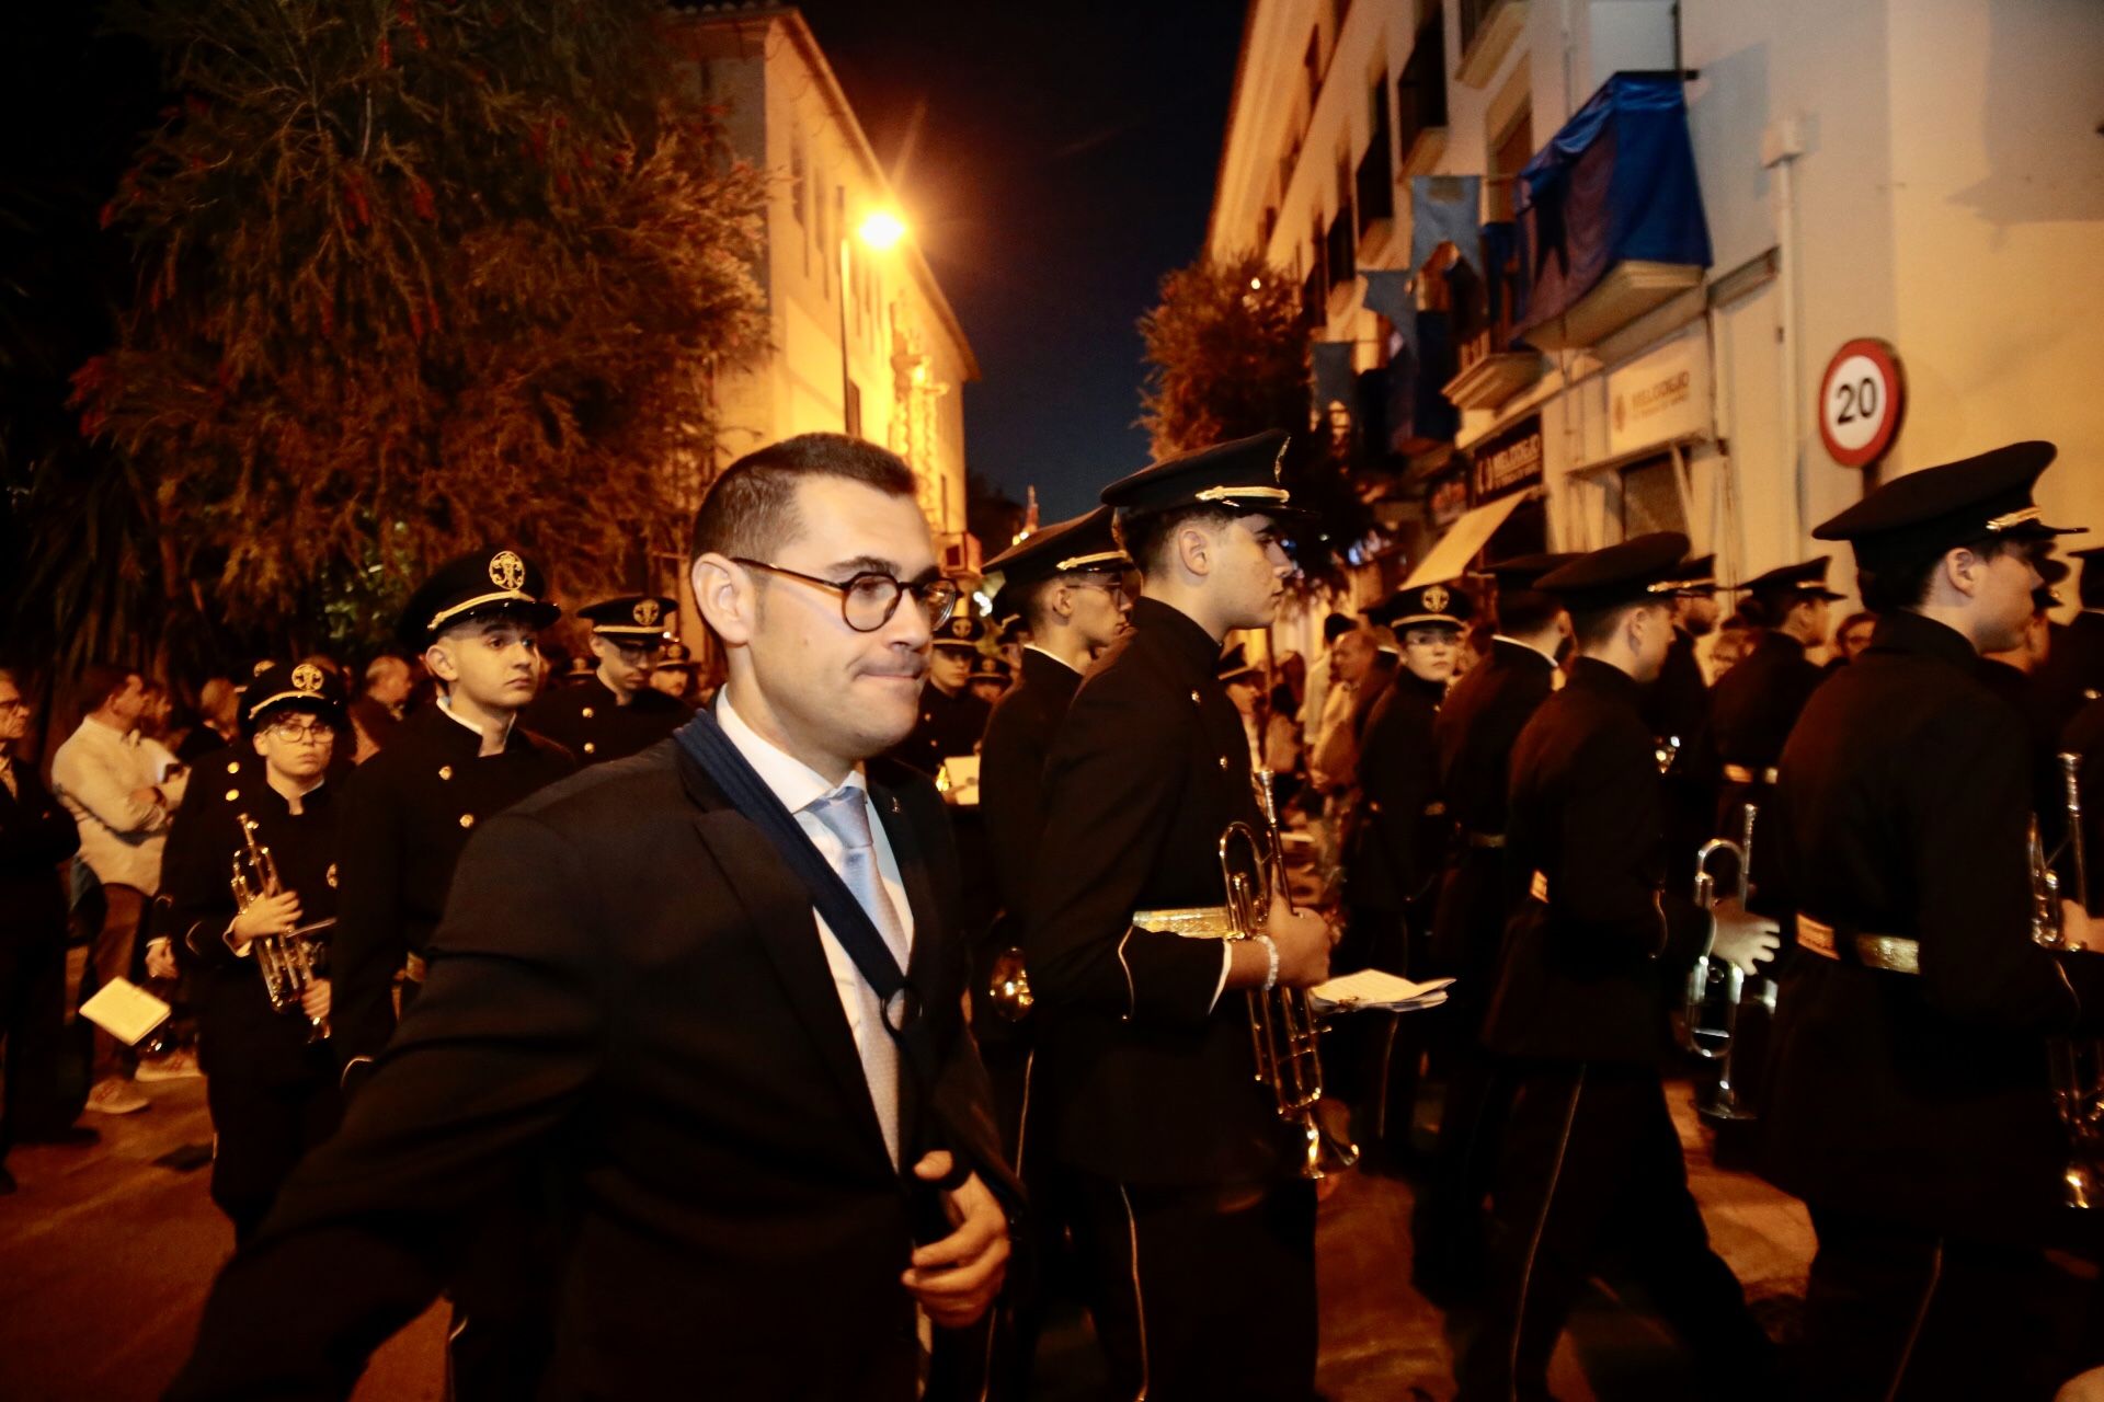
<instances>
[{"instance_id":1,"label":"young capped musician with glasses holding trumpet, at left","mask_svg":"<svg viewBox=\"0 0 2104 1402\"><path fill-rule=\"evenodd\" d=\"M337 1127L328 980L274 1007L263 975L269 950L257 942L303 929L307 948L326 948L339 889L328 774L349 729L343 692L311 662L265 668L242 698L250 763L225 776L223 788L200 786L168 837L168 933L194 975L213 1202L234 1221L236 1244L263 1223L292 1164ZM244 904L229 877L250 839L269 851L278 889L250 891ZM326 971L326 956L316 963Z\"/></svg>"}]
</instances>

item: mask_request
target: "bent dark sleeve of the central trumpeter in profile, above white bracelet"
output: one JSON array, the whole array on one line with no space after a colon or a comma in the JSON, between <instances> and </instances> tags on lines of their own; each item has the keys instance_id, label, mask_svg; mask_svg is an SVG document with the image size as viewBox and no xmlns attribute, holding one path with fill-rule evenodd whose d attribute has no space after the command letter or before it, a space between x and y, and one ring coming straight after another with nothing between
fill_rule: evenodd
<instances>
[{"instance_id":1,"label":"bent dark sleeve of the central trumpeter in profile, above white bracelet","mask_svg":"<svg viewBox=\"0 0 2104 1402\"><path fill-rule=\"evenodd\" d=\"M1195 717L1126 679L1084 685L1052 746L1046 832L1071 834L1031 885L1025 961L1048 1005L1201 1028L1220 988L1220 944L1132 927L1182 795Z\"/></svg>"}]
</instances>

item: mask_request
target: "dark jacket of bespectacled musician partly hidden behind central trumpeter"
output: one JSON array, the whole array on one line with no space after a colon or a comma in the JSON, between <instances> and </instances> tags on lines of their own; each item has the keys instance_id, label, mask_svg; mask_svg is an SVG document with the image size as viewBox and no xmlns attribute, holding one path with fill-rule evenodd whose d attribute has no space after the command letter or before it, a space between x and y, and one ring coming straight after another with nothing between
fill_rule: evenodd
<instances>
[{"instance_id":1,"label":"dark jacket of bespectacled musician partly hidden behind central trumpeter","mask_svg":"<svg viewBox=\"0 0 2104 1402\"><path fill-rule=\"evenodd\" d=\"M1041 860L1046 828L1046 759L1067 706L1081 687L1081 673L1035 647L1023 650L1023 668L1002 700L993 702L987 738L978 750L978 816L993 853L1002 916L985 942L989 958L974 958L972 996L980 998L991 956L1023 942L1023 910L1031 872ZM985 1019L978 1019L985 1024ZM991 1030L983 1026L983 1034Z\"/></svg>"}]
</instances>

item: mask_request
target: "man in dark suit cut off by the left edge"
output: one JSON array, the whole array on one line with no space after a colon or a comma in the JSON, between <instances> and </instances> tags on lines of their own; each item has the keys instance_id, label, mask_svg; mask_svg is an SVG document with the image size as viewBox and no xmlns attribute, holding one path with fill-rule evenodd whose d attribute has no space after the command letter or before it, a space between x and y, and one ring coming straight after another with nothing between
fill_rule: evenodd
<instances>
[{"instance_id":1,"label":"man in dark suit cut off by the left edge","mask_svg":"<svg viewBox=\"0 0 2104 1402\"><path fill-rule=\"evenodd\" d=\"M23 763L29 700L0 671L0 1194L15 1192L6 1152L27 1143L95 1143L59 1108L59 1045L65 1028L65 883L59 862L80 834L72 813Z\"/></svg>"}]
</instances>

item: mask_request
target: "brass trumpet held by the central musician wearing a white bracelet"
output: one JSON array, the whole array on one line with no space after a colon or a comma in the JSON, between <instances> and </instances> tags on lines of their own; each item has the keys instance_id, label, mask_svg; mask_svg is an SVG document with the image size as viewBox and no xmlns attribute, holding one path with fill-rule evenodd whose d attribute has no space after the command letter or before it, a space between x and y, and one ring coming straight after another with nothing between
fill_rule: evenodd
<instances>
[{"instance_id":1,"label":"brass trumpet held by the central musician wearing a white bracelet","mask_svg":"<svg viewBox=\"0 0 2104 1402\"><path fill-rule=\"evenodd\" d=\"M1220 832L1220 879L1227 887L1229 940L1250 940L1265 929L1271 898L1292 904L1286 851L1279 843L1279 809L1269 769L1256 771L1265 830L1231 822ZM1321 1122L1323 1099L1321 1019L1302 988L1250 988L1250 1043L1256 1080L1271 1091L1281 1120L1300 1135L1300 1177L1323 1179L1332 1169L1359 1162L1359 1146L1338 1139Z\"/></svg>"}]
</instances>

